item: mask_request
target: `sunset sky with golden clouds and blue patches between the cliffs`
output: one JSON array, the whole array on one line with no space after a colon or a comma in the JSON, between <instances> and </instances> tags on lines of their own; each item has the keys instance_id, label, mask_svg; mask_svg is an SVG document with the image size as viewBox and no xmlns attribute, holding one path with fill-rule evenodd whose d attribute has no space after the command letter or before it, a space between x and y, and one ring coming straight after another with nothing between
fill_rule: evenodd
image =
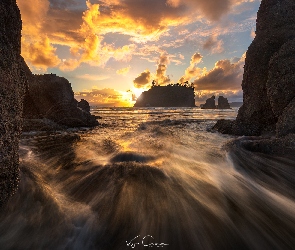
<instances>
[{"instance_id":1,"label":"sunset sky with golden clouds and blue patches between the cliffs","mask_svg":"<svg viewBox=\"0 0 295 250\"><path fill-rule=\"evenodd\" d=\"M194 83L242 101L245 52L261 0L17 0L22 56L34 74L67 78L91 105L133 106L158 85Z\"/></svg>"}]
</instances>

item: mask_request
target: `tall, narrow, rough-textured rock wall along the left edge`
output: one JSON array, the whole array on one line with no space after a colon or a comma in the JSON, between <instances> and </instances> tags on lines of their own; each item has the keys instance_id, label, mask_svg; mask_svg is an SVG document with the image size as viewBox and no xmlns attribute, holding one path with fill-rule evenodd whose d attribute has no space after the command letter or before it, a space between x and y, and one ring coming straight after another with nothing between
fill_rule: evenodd
<instances>
[{"instance_id":1,"label":"tall, narrow, rough-textured rock wall along the left edge","mask_svg":"<svg viewBox=\"0 0 295 250\"><path fill-rule=\"evenodd\" d=\"M15 0L0 1L0 206L17 188L22 100L21 17Z\"/></svg>"}]
</instances>

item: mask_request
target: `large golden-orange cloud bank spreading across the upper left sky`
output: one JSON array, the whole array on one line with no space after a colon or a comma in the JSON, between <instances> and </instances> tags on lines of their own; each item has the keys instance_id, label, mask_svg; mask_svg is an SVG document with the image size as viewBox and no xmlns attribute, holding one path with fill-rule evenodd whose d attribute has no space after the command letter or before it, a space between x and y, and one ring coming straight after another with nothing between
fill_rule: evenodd
<instances>
[{"instance_id":1,"label":"large golden-orange cloud bank spreading across the upper left sky","mask_svg":"<svg viewBox=\"0 0 295 250\"><path fill-rule=\"evenodd\" d=\"M17 0L24 27L22 54L29 64L44 70L60 67L63 71L70 71L81 63L104 67L110 59L128 62L134 54L140 53L138 44L169 36L171 27L184 26L204 18L217 21L232 7L247 1ZM182 35L189 33L187 29L181 32ZM120 34L128 39L125 44L116 46L104 41L108 34ZM214 39L209 38L204 48L220 53L222 41ZM170 44L175 46L177 40ZM66 46L72 57L61 60L57 56L56 45ZM169 46L169 43L165 45ZM165 67L160 66L159 78L164 71ZM166 80L160 79L162 82Z\"/></svg>"}]
</instances>

